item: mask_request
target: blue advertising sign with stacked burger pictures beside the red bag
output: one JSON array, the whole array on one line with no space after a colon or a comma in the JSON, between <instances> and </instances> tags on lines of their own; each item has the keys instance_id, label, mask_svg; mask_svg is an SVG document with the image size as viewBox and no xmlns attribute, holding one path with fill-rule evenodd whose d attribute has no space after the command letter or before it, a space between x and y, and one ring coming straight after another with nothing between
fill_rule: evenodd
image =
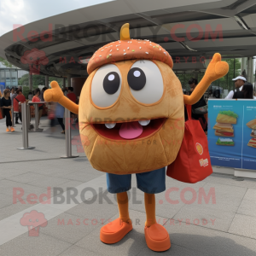
<instances>
[{"instance_id":1,"label":"blue advertising sign with stacked burger pictures beside the red bag","mask_svg":"<svg viewBox=\"0 0 256 256\"><path fill-rule=\"evenodd\" d=\"M213 166L256 170L256 101L209 100L207 138Z\"/></svg>"}]
</instances>

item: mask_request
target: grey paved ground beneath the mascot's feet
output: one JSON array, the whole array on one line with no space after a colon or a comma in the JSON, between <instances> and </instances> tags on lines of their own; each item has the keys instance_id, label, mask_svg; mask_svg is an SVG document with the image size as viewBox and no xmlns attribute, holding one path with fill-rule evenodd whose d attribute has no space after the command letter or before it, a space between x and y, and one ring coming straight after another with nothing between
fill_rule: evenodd
<instances>
[{"instance_id":1,"label":"grey paved ground beneath the mascot's feet","mask_svg":"<svg viewBox=\"0 0 256 256\"><path fill-rule=\"evenodd\" d=\"M115 197L105 193L105 174L94 170L84 153L76 159L60 159L65 154L64 136L60 128L51 134L47 123L43 119L43 133L29 134L29 143L36 148L20 151L16 149L22 142L20 126L6 134L0 120L0 255L157 254L145 243L143 193L136 189L134 178L130 194L134 229L114 245L99 240L102 224L118 217ZM75 154L76 149L73 146ZM48 187L49 197L55 197L49 204L38 203ZM54 193L57 188L66 191L62 197ZM177 191L156 196L157 220L166 225L172 241L172 248L161 255L256 255L255 180L236 181L214 173L201 183L186 184L167 177L166 188ZM23 203L15 203L14 193L20 192ZM76 192L76 201L68 201L68 195ZM203 192L212 195L207 203L201 200ZM48 221L39 236L28 233L26 213L32 211L44 213L35 219Z\"/></svg>"}]
</instances>

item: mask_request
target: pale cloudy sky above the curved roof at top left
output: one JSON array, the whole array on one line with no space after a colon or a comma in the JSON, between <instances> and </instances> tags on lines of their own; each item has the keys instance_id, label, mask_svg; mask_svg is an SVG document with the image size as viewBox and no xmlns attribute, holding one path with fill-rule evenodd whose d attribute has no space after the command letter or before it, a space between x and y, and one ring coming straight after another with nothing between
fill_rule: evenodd
<instances>
[{"instance_id":1,"label":"pale cloudy sky above the curved roof at top left","mask_svg":"<svg viewBox=\"0 0 256 256\"><path fill-rule=\"evenodd\" d=\"M113 0L0 0L0 37L27 23Z\"/></svg>"}]
</instances>

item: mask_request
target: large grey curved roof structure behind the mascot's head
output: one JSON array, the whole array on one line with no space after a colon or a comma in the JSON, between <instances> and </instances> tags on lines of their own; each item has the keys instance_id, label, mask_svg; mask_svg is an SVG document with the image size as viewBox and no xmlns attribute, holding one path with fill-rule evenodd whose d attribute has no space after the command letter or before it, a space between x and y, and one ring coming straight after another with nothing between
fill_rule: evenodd
<instances>
[{"instance_id":1,"label":"large grey curved roof structure behind the mascot's head","mask_svg":"<svg viewBox=\"0 0 256 256\"><path fill-rule=\"evenodd\" d=\"M38 20L4 34L0 55L16 67L55 77L86 77L87 63L104 44L119 39L130 23L131 38L165 48L174 70L205 68L215 52L256 55L254 0L117 0ZM34 56L38 62L33 62ZM29 61L32 60L32 62ZM32 67L32 63L36 63Z\"/></svg>"}]
</instances>

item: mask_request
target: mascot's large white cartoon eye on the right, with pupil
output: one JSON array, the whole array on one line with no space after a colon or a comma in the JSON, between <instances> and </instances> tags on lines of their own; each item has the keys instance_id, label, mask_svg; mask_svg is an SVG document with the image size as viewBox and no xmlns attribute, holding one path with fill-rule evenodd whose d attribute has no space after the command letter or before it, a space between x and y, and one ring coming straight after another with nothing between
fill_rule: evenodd
<instances>
[{"instance_id":1,"label":"mascot's large white cartoon eye on the right, with pupil","mask_svg":"<svg viewBox=\"0 0 256 256\"><path fill-rule=\"evenodd\" d=\"M127 75L131 94L138 102L152 104L163 96L164 81L153 61L136 61Z\"/></svg>"}]
</instances>

